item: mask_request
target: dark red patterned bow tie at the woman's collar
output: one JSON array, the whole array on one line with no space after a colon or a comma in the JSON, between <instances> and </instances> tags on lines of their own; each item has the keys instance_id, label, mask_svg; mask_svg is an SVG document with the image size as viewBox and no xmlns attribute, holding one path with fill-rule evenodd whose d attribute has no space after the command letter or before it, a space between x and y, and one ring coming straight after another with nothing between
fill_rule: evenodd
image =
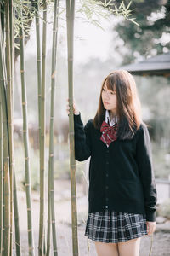
<instances>
[{"instance_id":1,"label":"dark red patterned bow tie at the woman's collar","mask_svg":"<svg viewBox=\"0 0 170 256\"><path fill-rule=\"evenodd\" d=\"M103 132L100 137L100 140L109 146L111 142L115 141L117 138L117 123L113 126L110 126L105 121L103 121L100 131Z\"/></svg>"}]
</instances>

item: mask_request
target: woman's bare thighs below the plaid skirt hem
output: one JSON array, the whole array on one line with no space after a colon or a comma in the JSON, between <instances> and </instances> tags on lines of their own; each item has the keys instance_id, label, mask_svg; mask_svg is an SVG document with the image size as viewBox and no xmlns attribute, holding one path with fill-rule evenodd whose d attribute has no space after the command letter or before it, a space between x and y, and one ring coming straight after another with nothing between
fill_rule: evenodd
<instances>
[{"instance_id":1,"label":"woman's bare thighs below the plaid skirt hem","mask_svg":"<svg viewBox=\"0 0 170 256\"><path fill-rule=\"evenodd\" d=\"M140 239L141 237L118 243L95 241L95 247L98 256L139 256Z\"/></svg>"}]
</instances>

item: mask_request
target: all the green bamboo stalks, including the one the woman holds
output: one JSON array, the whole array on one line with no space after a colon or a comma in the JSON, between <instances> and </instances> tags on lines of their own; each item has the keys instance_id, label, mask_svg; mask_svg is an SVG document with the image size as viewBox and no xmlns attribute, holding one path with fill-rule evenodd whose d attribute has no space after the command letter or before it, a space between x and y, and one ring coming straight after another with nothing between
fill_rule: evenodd
<instances>
[{"instance_id":1,"label":"all the green bamboo stalks, including the one the woman holds","mask_svg":"<svg viewBox=\"0 0 170 256\"><path fill-rule=\"evenodd\" d=\"M110 1L111 2L111 1ZM51 50L50 115L48 141L48 205L45 205L45 159L46 159L46 55L47 55L47 11L48 3L54 4L53 38ZM104 3L107 7L107 1ZM128 8L121 5L121 15L127 19ZM129 7L129 6L128 6ZM127 10L127 12L126 12ZM114 12L114 11L113 11ZM117 12L117 9L115 9ZM29 15L28 15L29 13ZM42 13L42 37L40 17ZM68 48L68 95L71 112L69 115L70 173L71 173L71 228L72 255L78 256L77 236L77 183L74 154L73 122L73 42L75 0L65 0L65 16ZM26 94L26 37L35 20L37 44L37 112L39 138L39 235L38 247L34 243L31 202L30 138L28 132L28 106ZM57 49L59 30L59 0L0 0L0 255L14 253L22 255L20 241L20 212L17 199L17 179L14 166L14 64L20 55L20 88L22 109L22 143L25 161L25 191L27 208L28 255L58 255L54 205L54 102L57 72ZM133 20L132 20L133 21ZM17 47L16 47L17 45ZM18 51L18 52L17 52ZM45 219L45 211L48 219ZM14 218L14 219L13 219ZM47 225L46 225L47 222ZM14 230L13 230L14 226ZM14 239L14 241L13 241ZM53 243L53 247L52 247Z\"/></svg>"}]
</instances>

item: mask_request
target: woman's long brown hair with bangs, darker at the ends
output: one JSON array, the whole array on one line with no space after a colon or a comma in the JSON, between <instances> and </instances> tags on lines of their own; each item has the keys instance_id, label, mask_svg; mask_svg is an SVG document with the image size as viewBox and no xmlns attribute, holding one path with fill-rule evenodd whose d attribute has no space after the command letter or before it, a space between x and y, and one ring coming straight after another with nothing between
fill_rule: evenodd
<instances>
[{"instance_id":1,"label":"woman's long brown hair with bangs, darker at the ends","mask_svg":"<svg viewBox=\"0 0 170 256\"><path fill-rule=\"evenodd\" d=\"M94 117L94 127L100 129L105 119L102 90L106 84L109 90L116 90L117 137L131 139L142 122L141 106L133 76L126 70L116 70L104 79L99 96L99 107Z\"/></svg>"}]
</instances>

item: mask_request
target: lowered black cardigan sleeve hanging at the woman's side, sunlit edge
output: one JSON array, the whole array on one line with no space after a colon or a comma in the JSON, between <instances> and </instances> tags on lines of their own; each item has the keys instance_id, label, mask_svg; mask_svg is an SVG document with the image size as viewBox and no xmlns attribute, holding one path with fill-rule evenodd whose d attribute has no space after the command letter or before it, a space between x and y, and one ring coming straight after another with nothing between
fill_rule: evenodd
<instances>
[{"instance_id":1,"label":"lowered black cardigan sleeve hanging at the woman's side, sunlit edge","mask_svg":"<svg viewBox=\"0 0 170 256\"><path fill-rule=\"evenodd\" d=\"M136 159L144 190L146 220L156 221L156 182L152 163L150 135L147 126L144 123L139 128L139 137L136 145Z\"/></svg>"}]
</instances>

